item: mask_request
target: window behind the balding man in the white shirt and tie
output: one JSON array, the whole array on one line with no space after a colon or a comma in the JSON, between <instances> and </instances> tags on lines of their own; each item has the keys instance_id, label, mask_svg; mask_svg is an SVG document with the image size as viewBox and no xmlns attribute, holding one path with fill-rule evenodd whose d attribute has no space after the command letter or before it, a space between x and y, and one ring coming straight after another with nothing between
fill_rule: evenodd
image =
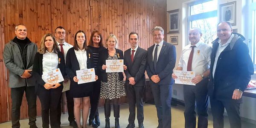
<instances>
[{"instance_id":1,"label":"window behind the balding man in the white shirt and tie","mask_svg":"<svg viewBox=\"0 0 256 128\"><path fill-rule=\"evenodd\" d=\"M217 0L197 0L188 4L187 31L193 27L200 28L203 33L201 40L206 44L211 44L217 38L217 2Z\"/></svg>"}]
</instances>

